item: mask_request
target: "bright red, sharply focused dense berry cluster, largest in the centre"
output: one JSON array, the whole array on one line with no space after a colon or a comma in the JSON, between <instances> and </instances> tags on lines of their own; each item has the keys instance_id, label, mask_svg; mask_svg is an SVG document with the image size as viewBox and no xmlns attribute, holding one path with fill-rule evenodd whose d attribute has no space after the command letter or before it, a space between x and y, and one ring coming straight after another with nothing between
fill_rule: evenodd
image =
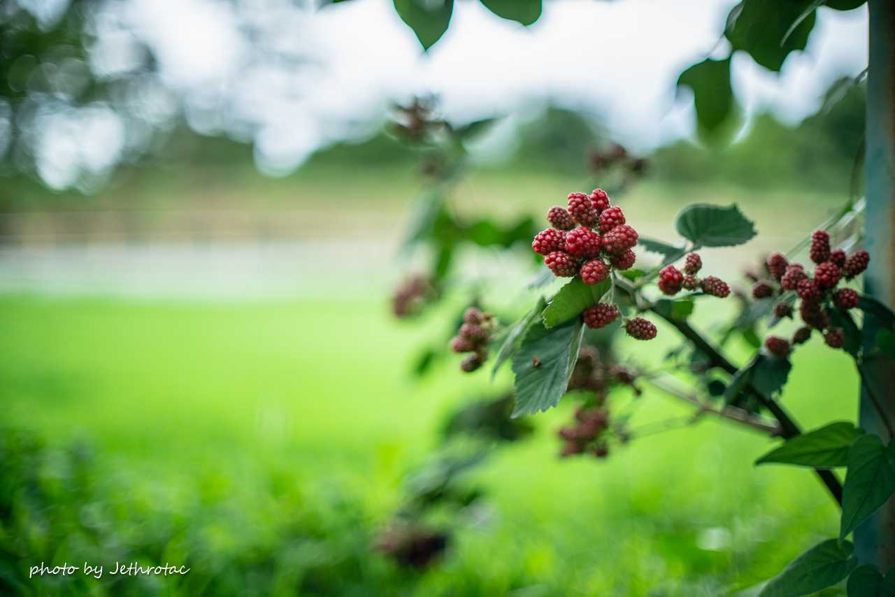
<instances>
[{"instance_id":1,"label":"bright red, sharply focused dense berry cluster, largest in the centre","mask_svg":"<svg viewBox=\"0 0 895 597\"><path fill-rule=\"evenodd\" d=\"M597 284L611 269L634 267L637 231L626 224L625 214L611 206L601 189L591 194L573 192L567 207L547 213L550 228L534 236L532 250L557 277L580 275L585 284Z\"/></svg>"}]
</instances>

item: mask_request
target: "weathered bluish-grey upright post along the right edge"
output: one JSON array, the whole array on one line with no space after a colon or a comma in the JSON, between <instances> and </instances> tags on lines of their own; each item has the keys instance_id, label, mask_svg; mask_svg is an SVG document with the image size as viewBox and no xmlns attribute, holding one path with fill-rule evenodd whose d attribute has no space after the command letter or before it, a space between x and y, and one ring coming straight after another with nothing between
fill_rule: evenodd
<instances>
[{"instance_id":1,"label":"weathered bluish-grey upright post along the right edge","mask_svg":"<svg viewBox=\"0 0 895 597\"><path fill-rule=\"evenodd\" d=\"M895 307L895 2L869 0L870 70L867 74L866 124L866 249L870 267L865 293ZM865 326L865 349L875 345L877 329ZM889 421L895 421L895 362L868 363L868 383L874 388ZM862 391L860 423L884 442L891 440L880 415ZM890 499L855 532L857 557L876 564L883 573L895 566L895 499Z\"/></svg>"}]
</instances>

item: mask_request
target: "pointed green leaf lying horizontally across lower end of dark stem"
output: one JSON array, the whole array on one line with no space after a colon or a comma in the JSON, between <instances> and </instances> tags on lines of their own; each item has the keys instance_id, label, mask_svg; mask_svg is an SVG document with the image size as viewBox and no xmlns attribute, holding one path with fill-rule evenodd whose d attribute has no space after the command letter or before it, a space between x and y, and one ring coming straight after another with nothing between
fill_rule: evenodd
<instances>
[{"instance_id":1,"label":"pointed green leaf lying horizontally across lower end of dark stem","mask_svg":"<svg viewBox=\"0 0 895 597\"><path fill-rule=\"evenodd\" d=\"M758 460L756 465L780 463L784 465L833 468L847 465L848 448L864 433L850 422L832 422L808 431L773 449Z\"/></svg>"}]
</instances>

